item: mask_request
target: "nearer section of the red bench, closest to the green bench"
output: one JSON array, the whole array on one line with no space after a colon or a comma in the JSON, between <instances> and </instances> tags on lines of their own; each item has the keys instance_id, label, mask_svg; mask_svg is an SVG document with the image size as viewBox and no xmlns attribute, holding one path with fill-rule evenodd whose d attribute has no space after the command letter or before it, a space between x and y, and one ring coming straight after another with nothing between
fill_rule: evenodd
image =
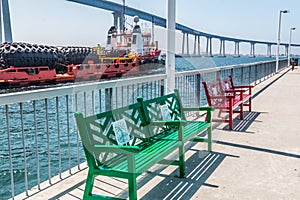
<instances>
[{"instance_id":1,"label":"nearer section of the red bench, closest to the green bench","mask_svg":"<svg viewBox=\"0 0 300 200\"><path fill-rule=\"evenodd\" d=\"M219 110L218 116L213 117L213 122L228 123L229 129L232 130L233 113L239 113L240 119L243 119L243 90L230 90L225 92L221 88L220 81L202 82L209 106L213 106L215 110ZM237 98L239 95L240 98ZM228 119L222 118L222 113L228 113Z\"/></svg>"}]
</instances>

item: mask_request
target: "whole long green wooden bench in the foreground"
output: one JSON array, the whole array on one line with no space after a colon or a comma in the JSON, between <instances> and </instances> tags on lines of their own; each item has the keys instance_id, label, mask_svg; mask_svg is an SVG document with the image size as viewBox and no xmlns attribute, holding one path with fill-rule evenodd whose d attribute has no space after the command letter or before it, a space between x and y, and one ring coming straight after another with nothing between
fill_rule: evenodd
<instances>
[{"instance_id":1,"label":"whole long green wooden bench in the foreground","mask_svg":"<svg viewBox=\"0 0 300 200\"><path fill-rule=\"evenodd\" d=\"M167 99L166 97L161 99ZM115 199L92 193L97 175L128 179L129 199L137 199L136 178L157 163L178 165L179 176L183 177L184 142L201 131L209 131L211 150L210 122L195 122L195 125L189 126L192 122L187 122L180 114L182 108L179 103L173 109L174 113L179 112L176 114L178 117L166 121L162 118L149 121L151 114L148 109L144 109L150 102L142 101L141 98L138 98L138 101L126 107L88 117L83 117L79 112L75 113L89 167L84 199ZM205 109L209 110L209 119L211 109ZM165 160L177 149L178 160Z\"/></svg>"}]
</instances>

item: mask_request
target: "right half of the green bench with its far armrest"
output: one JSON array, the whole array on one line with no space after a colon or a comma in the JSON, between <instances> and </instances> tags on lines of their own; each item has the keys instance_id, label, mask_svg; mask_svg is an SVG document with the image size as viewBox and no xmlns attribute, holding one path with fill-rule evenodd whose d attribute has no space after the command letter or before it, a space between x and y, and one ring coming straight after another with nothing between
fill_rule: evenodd
<instances>
[{"instance_id":1,"label":"right half of the green bench with its far armrest","mask_svg":"<svg viewBox=\"0 0 300 200\"><path fill-rule=\"evenodd\" d=\"M183 107L177 89L174 90L174 93L165 96L150 100L143 100L140 97L137 100L143 107L146 125L148 128L151 128L151 133L154 134L153 138L176 140L178 138L177 132L182 131L180 140L183 142L183 145L179 148L181 160L184 161L184 144L187 141L207 142L208 151L212 150L211 113L214 110L213 107ZM185 112L190 111L205 111L207 114L206 121L187 120ZM171 122L181 122L181 124L172 124ZM206 135L199 136L205 131L207 131ZM185 168L181 169L184 170ZM185 171L181 171L180 176L183 177L184 175Z\"/></svg>"}]
</instances>

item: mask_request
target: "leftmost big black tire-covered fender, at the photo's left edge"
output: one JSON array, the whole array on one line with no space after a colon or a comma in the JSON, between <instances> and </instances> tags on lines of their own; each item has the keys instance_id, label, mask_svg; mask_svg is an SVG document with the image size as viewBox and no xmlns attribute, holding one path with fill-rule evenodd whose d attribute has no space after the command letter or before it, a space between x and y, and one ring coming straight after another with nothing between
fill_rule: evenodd
<instances>
[{"instance_id":1,"label":"leftmost big black tire-covered fender, at the photo's left edge","mask_svg":"<svg viewBox=\"0 0 300 200\"><path fill-rule=\"evenodd\" d=\"M49 66L55 69L63 62L56 47L23 42L0 45L0 69L14 67Z\"/></svg>"}]
</instances>

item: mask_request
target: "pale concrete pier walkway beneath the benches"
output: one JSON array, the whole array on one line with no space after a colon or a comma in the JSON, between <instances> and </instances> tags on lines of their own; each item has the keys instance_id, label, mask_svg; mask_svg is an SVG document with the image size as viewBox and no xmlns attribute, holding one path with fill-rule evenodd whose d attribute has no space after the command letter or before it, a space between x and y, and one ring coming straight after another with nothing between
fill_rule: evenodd
<instances>
[{"instance_id":1,"label":"pale concrete pier walkway beneath the benches","mask_svg":"<svg viewBox=\"0 0 300 200\"><path fill-rule=\"evenodd\" d=\"M187 148L187 177L154 166L140 176L141 199L300 199L300 68L282 71L254 88L253 111L233 131L215 124L213 153ZM81 199L87 171L29 199ZM43 186L42 186L43 187ZM95 191L128 197L124 180L98 177ZM33 189L34 191L34 189ZM16 199L21 199L22 195Z\"/></svg>"}]
</instances>

